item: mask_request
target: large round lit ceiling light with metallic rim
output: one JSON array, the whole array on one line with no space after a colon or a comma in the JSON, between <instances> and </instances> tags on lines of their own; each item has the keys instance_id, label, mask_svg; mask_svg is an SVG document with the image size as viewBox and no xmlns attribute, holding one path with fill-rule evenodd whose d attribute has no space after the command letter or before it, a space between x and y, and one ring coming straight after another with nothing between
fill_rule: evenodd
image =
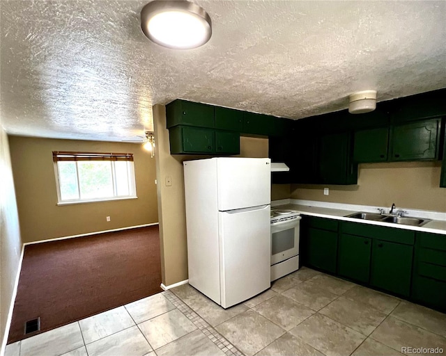
<instances>
[{"instance_id":1,"label":"large round lit ceiling light with metallic rim","mask_svg":"<svg viewBox=\"0 0 446 356\"><path fill-rule=\"evenodd\" d=\"M141 29L153 42L174 49L192 49L212 35L210 17L185 0L155 0L141 10Z\"/></svg>"}]
</instances>

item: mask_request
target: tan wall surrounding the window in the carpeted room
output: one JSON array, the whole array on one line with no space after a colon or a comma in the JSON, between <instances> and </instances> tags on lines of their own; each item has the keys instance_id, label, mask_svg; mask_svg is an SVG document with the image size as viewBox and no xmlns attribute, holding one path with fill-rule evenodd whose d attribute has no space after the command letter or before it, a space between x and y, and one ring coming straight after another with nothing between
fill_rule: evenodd
<instances>
[{"instance_id":1,"label":"tan wall surrounding the window in the carpeted room","mask_svg":"<svg viewBox=\"0 0 446 356\"><path fill-rule=\"evenodd\" d=\"M157 223L155 159L142 145L20 136L9 142L24 243ZM138 198L58 206L52 151L133 153Z\"/></svg>"}]
</instances>

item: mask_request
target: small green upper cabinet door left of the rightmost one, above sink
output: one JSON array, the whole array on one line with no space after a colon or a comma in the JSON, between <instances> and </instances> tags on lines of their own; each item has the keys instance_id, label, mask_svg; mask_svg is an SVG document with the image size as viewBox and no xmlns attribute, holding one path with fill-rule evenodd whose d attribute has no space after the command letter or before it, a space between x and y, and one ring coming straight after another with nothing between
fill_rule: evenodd
<instances>
[{"instance_id":1,"label":"small green upper cabinet door left of the rightmost one, above sink","mask_svg":"<svg viewBox=\"0 0 446 356\"><path fill-rule=\"evenodd\" d=\"M369 129L355 132L353 161L356 163L387 161L389 129Z\"/></svg>"}]
</instances>

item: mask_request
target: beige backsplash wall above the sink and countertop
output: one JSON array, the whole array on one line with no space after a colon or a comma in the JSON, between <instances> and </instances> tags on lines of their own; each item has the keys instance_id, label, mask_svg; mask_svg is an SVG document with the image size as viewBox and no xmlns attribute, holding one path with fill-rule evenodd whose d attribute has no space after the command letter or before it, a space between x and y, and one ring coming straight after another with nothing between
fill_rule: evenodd
<instances>
[{"instance_id":1,"label":"beige backsplash wall above the sink and countertop","mask_svg":"<svg viewBox=\"0 0 446 356\"><path fill-rule=\"evenodd\" d=\"M291 198L446 212L446 188L440 188L440 162L360 164L356 186L291 185Z\"/></svg>"}]
</instances>

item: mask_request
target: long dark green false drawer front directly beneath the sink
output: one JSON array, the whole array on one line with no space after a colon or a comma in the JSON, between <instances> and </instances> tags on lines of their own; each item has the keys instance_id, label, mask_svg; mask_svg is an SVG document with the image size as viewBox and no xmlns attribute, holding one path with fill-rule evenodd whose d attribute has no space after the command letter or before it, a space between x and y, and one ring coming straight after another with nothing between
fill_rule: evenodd
<instances>
[{"instance_id":1,"label":"long dark green false drawer front directly beneath the sink","mask_svg":"<svg viewBox=\"0 0 446 356\"><path fill-rule=\"evenodd\" d=\"M413 245L415 241L415 232L392 227L342 222L341 229L346 234L379 238L383 241L404 243L406 245Z\"/></svg>"}]
</instances>

